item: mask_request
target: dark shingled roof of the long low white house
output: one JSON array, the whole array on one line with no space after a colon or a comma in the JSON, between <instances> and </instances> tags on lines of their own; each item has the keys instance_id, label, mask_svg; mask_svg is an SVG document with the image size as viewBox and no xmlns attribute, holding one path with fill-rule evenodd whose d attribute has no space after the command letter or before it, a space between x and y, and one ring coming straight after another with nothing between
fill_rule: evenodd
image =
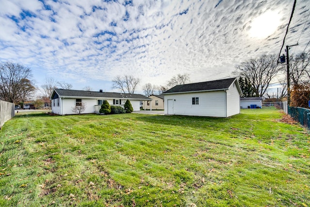
<instances>
[{"instance_id":1,"label":"dark shingled roof of the long low white house","mask_svg":"<svg viewBox=\"0 0 310 207\"><path fill-rule=\"evenodd\" d=\"M122 94L110 92L97 92L97 91L80 91L80 90L67 90L67 89L54 89L54 94L57 93L60 97L92 97L92 98L119 98L119 99L139 99L139 100L152 100L140 94Z\"/></svg>"}]
</instances>

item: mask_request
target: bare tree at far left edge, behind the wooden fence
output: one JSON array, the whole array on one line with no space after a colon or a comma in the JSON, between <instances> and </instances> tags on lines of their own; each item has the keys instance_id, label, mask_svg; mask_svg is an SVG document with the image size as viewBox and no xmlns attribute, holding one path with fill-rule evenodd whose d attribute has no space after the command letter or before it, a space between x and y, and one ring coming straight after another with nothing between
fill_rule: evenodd
<instances>
[{"instance_id":1,"label":"bare tree at far left edge, behind the wooden fence","mask_svg":"<svg viewBox=\"0 0 310 207\"><path fill-rule=\"evenodd\" d=\"M30 80L31 69L18 63L0 63L0 96L3 100L15 103L20 98L25 81ZM28 82L29 83L29 82ZM24 93L25 96L27 92Z\"/></svg>"}]
</instances>

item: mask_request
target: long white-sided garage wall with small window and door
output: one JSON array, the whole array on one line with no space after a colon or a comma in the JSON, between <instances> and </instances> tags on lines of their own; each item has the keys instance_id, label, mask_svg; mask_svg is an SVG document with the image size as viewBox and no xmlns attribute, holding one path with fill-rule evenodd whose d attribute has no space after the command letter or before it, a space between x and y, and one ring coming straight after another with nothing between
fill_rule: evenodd
<instances>
[{"instance_id":1,"label":"long white-sided garage wall with small window and door","mask_svg":"<svg viewBox=\"0 0 310 207\"><path fill-rule=\"evenodd\" d=\"M192 105L192 97L199 97L198 105ZM165 94L165 114L168 112L168 99L173 100L173 114L176 115L226 117L226 93L224 91Z\"/></svg>"}]
</instances>

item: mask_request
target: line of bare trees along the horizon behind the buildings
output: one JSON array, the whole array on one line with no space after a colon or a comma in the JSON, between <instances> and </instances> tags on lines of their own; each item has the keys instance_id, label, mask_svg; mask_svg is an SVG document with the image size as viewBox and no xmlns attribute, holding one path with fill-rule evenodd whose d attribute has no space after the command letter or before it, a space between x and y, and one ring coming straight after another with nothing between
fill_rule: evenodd
<instances>
[{"instance_id":1,"label":"line of bare trees along the horizon behind the buildings","mask_svg":"<svg viewBox=\"0 0 310 207\"><path fill-rule=\"evenodd\" d=\"M279 79L279 98L287 95L287 69L286 64L279 64L276 55L261 55L252 58L235 67L233 76L238 77L243 97L264 96L270 97L268 88L274 84L275 78ZM300 105L294 96L302 96L309 99L310 95L310 50L290 55L290 83L292 85L292 104ZM145 96L161 95L163 92L175 85L190 83L189 74L177 74L167 81L165 85L146 83L142 86ZM133 94L140 79L132 75L117 76L112 80L112 88L118 89L121 93ZM47 77L41 85L42 96L49 98L55 88L71 89L72 84L56 81ZM24 102L34 95L37 87L32 80L31 69L22 64L5 62L0 63L0 97L12 103ZM83 90L92 91L90 86ZM308 93L309 92L309 93ZM306 96L308 96L306 98Z\"/></svg>"}]
</instances>

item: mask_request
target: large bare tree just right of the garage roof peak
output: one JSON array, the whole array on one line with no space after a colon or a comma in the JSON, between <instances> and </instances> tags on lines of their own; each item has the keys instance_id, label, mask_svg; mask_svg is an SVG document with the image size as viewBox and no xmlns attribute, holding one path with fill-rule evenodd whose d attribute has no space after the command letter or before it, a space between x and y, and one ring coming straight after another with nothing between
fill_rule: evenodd
<instances>
[{"instance_id":1,"label":"large bare tree just right of the garage roof peak","mask_svg":"<svg viewBox=\"0 0 310 207\"><path fill-rule=\"evenodd\" d=\"M234 73L248 79L255 90L255 96L262 97L270 85L271 80L279 72L276 55L262 55L257 59L250 59L236 66Z\"/></svg>"}]
</instances>

